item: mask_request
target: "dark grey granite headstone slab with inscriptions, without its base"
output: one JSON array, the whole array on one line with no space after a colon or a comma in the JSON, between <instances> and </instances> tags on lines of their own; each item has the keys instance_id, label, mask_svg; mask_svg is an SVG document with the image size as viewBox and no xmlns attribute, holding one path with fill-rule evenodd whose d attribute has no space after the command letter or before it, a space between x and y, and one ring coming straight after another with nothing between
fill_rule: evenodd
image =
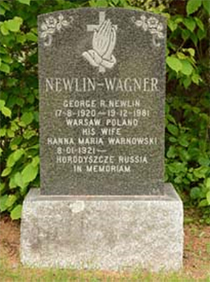
<instances>
[{"instance_id":1,"label":"dark grey granite headstone slab with inscriptions, without its base","mask_svg":"<svg viewBox=\"0 0 210 282\"><path fill-rule=\"evenodd\" d=\"M81 8L38 17L41 193L161 195L161 15Z\"/></svg>"}]
</instances>

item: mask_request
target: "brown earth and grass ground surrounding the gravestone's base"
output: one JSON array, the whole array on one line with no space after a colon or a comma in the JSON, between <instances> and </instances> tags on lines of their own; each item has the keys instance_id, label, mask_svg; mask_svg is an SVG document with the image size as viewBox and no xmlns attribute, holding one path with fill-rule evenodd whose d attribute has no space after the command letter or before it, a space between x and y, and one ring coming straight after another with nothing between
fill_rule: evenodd
<instances>
[{"instance_id":1,"label":"brown earth and grass ground surrounding the gravestone's base","mask_svg":"<svg viewBox=\"0 0 210 282\"><path fill-rule=\"evenodd\" d=\"M193 211L186 211L183 271L178 274L151 274L145 271L116 273L27 269L20 264L20 222L1 217L0 267L2 282L208 282L210 281L210 226L197 223ZM29 234L30 236L30 234Z\"/></svg>"}]
</instances>

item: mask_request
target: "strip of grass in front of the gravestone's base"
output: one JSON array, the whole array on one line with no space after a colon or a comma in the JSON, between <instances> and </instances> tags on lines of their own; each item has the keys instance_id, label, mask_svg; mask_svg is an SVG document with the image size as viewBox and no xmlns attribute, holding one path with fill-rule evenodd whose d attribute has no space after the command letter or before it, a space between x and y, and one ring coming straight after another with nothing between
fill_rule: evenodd
<instances>
[{"instance_id":1,"label":"strip of grass in front of the gravestone's base","mask_svg":"<svg viewBox=\"0 0 210 282\"><path fill-rule=\"evenodd\" d=\"M1 282L209 282L210 276L193 278L183 271L154 274L136 270L133 272L76 271L71 269L29 269L18 264L10 268L0 260Z\"/></svg>"}]
</instances>

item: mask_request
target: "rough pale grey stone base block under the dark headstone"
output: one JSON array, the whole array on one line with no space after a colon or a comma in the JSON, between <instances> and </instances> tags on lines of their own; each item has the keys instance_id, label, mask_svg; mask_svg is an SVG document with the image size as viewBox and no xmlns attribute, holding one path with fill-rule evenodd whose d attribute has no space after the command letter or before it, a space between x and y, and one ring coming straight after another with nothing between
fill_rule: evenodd
<instances>
[{"instance_id":1,"label":"rough pale grey stone base block under the dark headstone","mask_svg":"<svg viewBox=\"0 0 210 282\"><path fill-rule=\"evenodd\" d=\"M41 196L31 189L21 223L29 267L152 271L182 267L183 205L165 196Z\"/></svg>"}]
</instances>

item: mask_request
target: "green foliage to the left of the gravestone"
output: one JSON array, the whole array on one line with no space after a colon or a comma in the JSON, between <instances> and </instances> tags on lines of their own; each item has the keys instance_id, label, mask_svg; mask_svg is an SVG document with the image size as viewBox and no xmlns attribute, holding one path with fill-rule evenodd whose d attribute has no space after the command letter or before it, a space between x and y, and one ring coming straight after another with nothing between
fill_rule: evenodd
<instances>
[{"instance_id":1,"label":"green foliage to the left of the gravestone","mask_svg":"<svg viewBox=\"0 0 210 282\"><path fill-rule=\"evenodd\" d=\"M29 4L0 2L0 210L12 219L20 218L29 187L38 186L37 32L36 18L25 10Z\"/></svg>"}]
</instances>

